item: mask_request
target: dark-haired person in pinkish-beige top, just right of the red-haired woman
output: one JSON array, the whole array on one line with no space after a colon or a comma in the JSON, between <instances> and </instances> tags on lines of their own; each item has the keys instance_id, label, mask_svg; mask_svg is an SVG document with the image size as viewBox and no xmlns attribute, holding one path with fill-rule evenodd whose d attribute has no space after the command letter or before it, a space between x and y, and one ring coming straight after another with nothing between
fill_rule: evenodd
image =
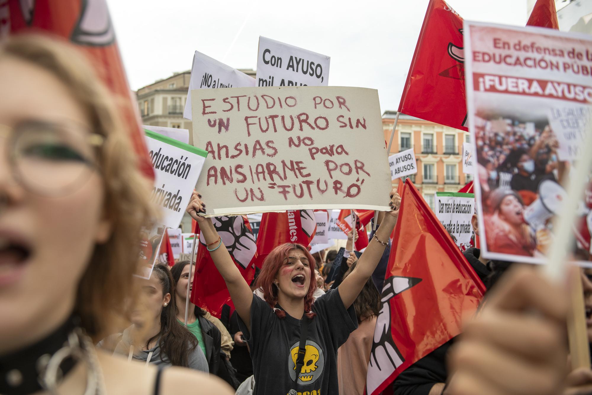
<instances>
[{"instance_id":1,"label":"dark-haired person in pinkish-beige top, just right of the red-haired woman","mask_svg":"<svg viewBox=\"0 0 592 395\"><path fill-rule=\"evenodd\" d=\"M343 280L353 272L357 263L353 262ZM362 291L353 301L353 309L356 310L358 329L350 333L348 340L337 350L337 375L339 393L362 395L366 387L374 327L380 312L380 294L372 278L366 281Z\"/></svg>"}]
</instances>

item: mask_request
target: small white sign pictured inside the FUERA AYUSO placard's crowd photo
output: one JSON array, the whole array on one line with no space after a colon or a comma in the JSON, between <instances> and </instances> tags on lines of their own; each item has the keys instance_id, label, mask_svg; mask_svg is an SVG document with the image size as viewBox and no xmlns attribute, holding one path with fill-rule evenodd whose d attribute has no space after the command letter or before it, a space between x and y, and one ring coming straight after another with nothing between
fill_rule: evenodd
<instances>
[{"instance_id":1,"label":"small white sign pictured inside the FUERA AYUSO placard's crowd photo","mask_svg":"<svg viewBox=\"0 0 592 395\"><path fill-rule=\"evenodd\" d=\"M572 161L581 153L585 133L592 124L592 108L589 105L566 103L549 108L549 124L559 143L559 160Z\"/></svg>"}]
</instances>

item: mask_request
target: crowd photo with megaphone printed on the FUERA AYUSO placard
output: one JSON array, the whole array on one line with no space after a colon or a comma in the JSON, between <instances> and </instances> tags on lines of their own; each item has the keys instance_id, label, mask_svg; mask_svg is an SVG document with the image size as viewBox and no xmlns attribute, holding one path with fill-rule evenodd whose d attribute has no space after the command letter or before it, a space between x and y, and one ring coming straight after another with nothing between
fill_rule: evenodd
<instances>
[{"instance_id":1,"label":"crowd photo with megaphone printed on the FUERA AYUSO placard","mask_svg":"<svg viewBox=\"0 0 592 395\"><path fill-rule=\"evenodd\" d=\"M553 219L572 163L561 161L548 120L496 116L476 118L477 175L481 186L488 251L542 257L553 240ZM573 252L590 261L588 187L574 224Z\"/></svg>"}]
</instances>

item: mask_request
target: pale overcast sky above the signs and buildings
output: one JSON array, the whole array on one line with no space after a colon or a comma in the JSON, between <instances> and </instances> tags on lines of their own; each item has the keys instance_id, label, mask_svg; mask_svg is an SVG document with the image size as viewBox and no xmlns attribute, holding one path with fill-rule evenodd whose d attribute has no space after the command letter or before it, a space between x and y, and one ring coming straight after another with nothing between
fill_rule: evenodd
<instances>
[{"instance_id":1,"label":"pale overcast sky above the signs and buildings","mask_svg":"<svg viewBox=\"0 0 592 395\"><path fill-rule=\"evenodd\" d=\"M398 108L428 0L107 0L132 89L191 68L198 50L256 69L259 36L331 57L329 85ZM525 0L450 0L466 20L524 25Z\"/></svg>"}]
</instances>

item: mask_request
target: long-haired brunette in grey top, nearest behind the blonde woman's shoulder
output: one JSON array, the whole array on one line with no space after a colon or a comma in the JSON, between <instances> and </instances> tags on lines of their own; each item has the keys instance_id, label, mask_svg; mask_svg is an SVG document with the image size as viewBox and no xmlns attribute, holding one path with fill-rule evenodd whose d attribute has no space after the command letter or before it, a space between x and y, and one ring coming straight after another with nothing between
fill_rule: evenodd
<instances>
[{"instance_id":1,"label":"long-haired brunette in grey top, nearest behind the blonde woman's shoulder","mask_svg":"<svg viewBox=\"0 0 592 395\"><path fill-rule=\"evenodd\" d=\"M156 265L149 280L136 278L141 293L131 314L133 325L123 332L115 353L147 364L173 365L208 371L197 339L177 321L175 281L164 265Z\"/></svg>"}]
</instances>

